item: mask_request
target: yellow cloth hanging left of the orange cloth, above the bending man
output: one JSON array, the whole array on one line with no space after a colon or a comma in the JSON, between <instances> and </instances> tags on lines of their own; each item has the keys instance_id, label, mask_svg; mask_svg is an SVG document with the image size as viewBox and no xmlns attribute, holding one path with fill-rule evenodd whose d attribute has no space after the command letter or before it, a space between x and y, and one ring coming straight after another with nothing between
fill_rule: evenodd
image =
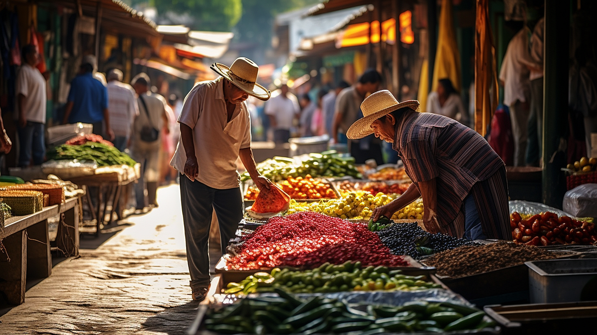
<instances>
[{"instance_id":1,"label":"yellow cloth hanging left of the orange cloth, above the bending man","mask_svg":"<svg viewBox=\"0 0 597 335\"><path fill-rule=\"evenodd\" d=\"M442 12L439 15L438 51L435 54L435 66L433 66L433 91L438 88L438 80L442 78L450 78L454 88L460 91L460 54L456 44L451 0L442 0Z\"/></svg>"}]
</instances>

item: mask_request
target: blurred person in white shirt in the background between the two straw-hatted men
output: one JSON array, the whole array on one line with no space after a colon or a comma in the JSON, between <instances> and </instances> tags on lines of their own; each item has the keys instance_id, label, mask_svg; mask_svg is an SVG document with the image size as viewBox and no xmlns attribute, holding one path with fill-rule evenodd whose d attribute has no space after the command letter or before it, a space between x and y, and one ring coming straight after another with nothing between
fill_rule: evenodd
<instances>
[{"instance_id":1,"label":"blurred person in white shirt in the background between the two straw-hatted men","mask_svg":"<svg viewBox=\"0 0 597 335\"><path fill-rule=\"evenodd\" d=\"M265 104L265 113L273 128L274 142L288 142L293 121L300 113L300 106L297 97L288 92L287 84L282 84L278 91L272 93L272 98Z\"/></svg>"}]
</instances>

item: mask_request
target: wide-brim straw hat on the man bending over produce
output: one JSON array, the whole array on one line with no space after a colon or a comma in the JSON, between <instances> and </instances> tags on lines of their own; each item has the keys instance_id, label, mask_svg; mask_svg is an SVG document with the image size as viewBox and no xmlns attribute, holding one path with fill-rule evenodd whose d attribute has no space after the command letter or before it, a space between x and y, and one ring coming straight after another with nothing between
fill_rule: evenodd
<instances>
[{"instance_id":1,"label":"wide-brim straw hat on the man bending over produce","mask_svg":"<svg viewBox=\"0 0 597 335\"><path fill-rule=\"evenodd\" d=\"M346 137L351 140L357 140L373 134L371 124L374 121L381 118L381 116L387 115L394 110L403 107L418 110L418 101L407 100L405 102L398 102L388 90L381 90L371 94L363 101L363 103L361 103L363 117L356 120L356 122L348 128Z\"/></svg>"}]
</instances>

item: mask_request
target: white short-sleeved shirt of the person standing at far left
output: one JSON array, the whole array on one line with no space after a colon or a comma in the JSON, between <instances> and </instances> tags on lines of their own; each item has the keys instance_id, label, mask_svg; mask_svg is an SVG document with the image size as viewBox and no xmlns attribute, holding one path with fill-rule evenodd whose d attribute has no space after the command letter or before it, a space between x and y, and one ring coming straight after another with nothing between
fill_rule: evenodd
<instances>
[{"instance_id":1,"label":"white short-sleeved shirt of the person standing at far left","mask_svg":"<svg viewBox=\"0 0 597 335\"><path fill-rule=\"evenodd\" d=\"M17 75L17 113L15 119L19 118L19 94L25 96L23 112L27 121L45 124L46 112L46 90L45 78L37 67L24 63Z\"/></svg>"}]
</instances>

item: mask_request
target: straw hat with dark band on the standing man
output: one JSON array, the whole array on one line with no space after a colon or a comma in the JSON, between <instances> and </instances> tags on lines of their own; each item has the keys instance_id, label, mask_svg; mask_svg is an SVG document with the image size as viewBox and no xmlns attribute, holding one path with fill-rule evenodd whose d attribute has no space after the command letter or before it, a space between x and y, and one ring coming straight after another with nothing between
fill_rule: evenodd
<instances>
[{"instance_id":1,"label":"straw hat with dark band on the standing man","mask_svg":"<svg viewBox=\"0 0 597 335\"><path fill-rule=\"evenodd\" d=\"M259 100L265 101L271 95L270 91L256 83L259 66L248 58L239 57L230 67L220 63L213 63L210 69Z\"/></svg>"}]
</instances>

